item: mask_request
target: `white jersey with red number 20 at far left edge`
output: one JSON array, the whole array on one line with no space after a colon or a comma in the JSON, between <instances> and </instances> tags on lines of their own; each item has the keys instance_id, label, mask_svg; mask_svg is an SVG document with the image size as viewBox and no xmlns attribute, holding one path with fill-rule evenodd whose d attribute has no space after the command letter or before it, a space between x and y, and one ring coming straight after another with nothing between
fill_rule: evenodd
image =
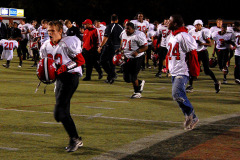
<instances>
[{"instance_id":1,"label":"white jersey with red number 20 at far left edge","mask_svg":"<svg viewBox=\"0 0 240 160\"><path fill-rule=\"evenodd\" d=\"M6 40L2 39L0 41L0 46L3 47L2 59L12 60L13 59L13 50L18 48L18 42L15 40Z\"/></svg>"}]
</instances>

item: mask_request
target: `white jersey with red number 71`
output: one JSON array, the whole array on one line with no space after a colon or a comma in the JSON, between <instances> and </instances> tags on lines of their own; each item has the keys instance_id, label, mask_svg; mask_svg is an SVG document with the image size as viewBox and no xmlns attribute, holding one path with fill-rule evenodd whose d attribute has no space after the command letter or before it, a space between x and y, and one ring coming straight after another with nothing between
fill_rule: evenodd
<instances>
[{"instance_id":1,"label":"white jersey with red number 71","mask_svg":"<svg viewBox=\"0 0 240 160\"><path fill-rule=\"evenodd\" d=\"M122 49L124 51L124 55L127 58L134 58L132 56L133 51L136 51L140 46L148 45L146 35L137 30L135 30L135 32L130 36L128 36L124 30L120 34L120 39L122 40ZM136 57L141 57L143 54L144 52L141 52Z\"/></svg>"}]
</instances>

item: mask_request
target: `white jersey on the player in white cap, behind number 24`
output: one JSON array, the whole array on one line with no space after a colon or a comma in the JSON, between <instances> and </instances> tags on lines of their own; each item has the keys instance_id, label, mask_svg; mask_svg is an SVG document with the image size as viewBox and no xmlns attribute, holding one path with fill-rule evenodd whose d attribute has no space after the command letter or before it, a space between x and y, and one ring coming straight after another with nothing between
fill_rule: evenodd
<instances>
[{"instance_id":1,"label":"white jersey on the player in white cap, behind number 24","mask_svg":"<svg viewBox=\"0 0 240 160\"><path fill-rule=\"evenodd\" d=\"M196 29L193 28L188 32L195 40L199 40L202 43L206 43L207 39L210 39L210 30L208 28L202 28L201 31L196 32ZM207 46L204 45L198 45L197 43L197 51L202 51L207 49Z\"/></svg>"}]
</instances>

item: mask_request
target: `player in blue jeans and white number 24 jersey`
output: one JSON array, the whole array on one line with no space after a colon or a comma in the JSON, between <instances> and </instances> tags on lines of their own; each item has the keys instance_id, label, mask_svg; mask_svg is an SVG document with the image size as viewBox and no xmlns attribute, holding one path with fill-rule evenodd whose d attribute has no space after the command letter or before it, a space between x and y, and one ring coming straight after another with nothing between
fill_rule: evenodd
<instances>
[{"instance_id":1,"label":"player in blue jeans and white number 24 jersey","mask_svg":"<svg viewBox=\"0 0 240 160\"><path fill-rule=\"evenodd\" d=\"M183 26L182 16L173 15L169 19L168 29L172 34L168 41L168 67L172 75L172 96L185 115L184 129L193 129L199 119L194 113L194 108L187 98L185 85L189 74L197 77L200 67L197 57L197 44Z\"/></svg>"}]
</instances>

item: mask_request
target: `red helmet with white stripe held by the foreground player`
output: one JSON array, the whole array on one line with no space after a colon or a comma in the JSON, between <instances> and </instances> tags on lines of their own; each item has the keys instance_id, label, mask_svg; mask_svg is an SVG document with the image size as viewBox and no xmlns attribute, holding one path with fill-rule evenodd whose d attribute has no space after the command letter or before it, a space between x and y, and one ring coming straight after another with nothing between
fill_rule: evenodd
<instances>
[{"instance_id":1,"label":"red helmet with white stripe held by the foreground player","mask_svg":"<svg viewBox=\"0 0 240 160\"><path fill-rule=\"evenodd\" d=\"M41 82L51 84L56 80L55 71L56 66L54 60L51 58L43 58L38 63L37 77Z\"/></svg>"}]
</instances>

